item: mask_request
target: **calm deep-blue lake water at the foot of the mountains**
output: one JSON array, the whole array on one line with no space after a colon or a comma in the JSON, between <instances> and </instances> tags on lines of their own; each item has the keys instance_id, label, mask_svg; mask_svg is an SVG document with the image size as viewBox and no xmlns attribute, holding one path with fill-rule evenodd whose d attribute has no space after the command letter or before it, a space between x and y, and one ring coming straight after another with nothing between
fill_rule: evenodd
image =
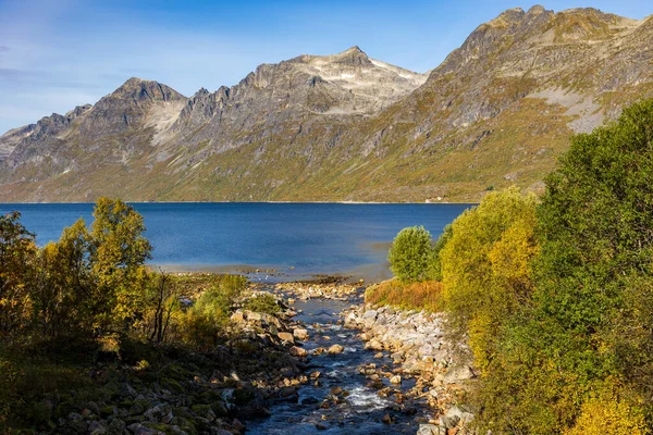
<instances>
[{"instance_id":1,"label":"calm deep-blue lake water at the foot of the mountains","mask_svg":"<svg viewBox=\"0 0 653 435\"><path fill-rule=\"evenodd\" d=\"M469 204L134 203L153 246L151 263L173 271L275 269L287 278L311 274L390 276L396 233L423 225L435 238ZM39 245L84 217L90 203L0 204L17 210ZM264 272L263 272L264 273ZM267 275L267 273L264 273ZM279 277L278 277L279 278Z\"/></svg>"}]
</instances>

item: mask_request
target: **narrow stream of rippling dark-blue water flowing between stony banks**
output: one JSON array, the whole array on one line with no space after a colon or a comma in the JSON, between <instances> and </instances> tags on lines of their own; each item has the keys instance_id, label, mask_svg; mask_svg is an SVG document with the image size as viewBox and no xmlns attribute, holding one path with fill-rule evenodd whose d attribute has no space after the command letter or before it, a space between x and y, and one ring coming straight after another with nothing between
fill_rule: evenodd
<instances>
[{"instance_id":1,"label":"narrow stream of rippling dark-blue water flowing between stony banks","mask_svg":"<svg viewBox=\"0 0 653 435\"><path fill-rule=\"evenodd\" d=\"M384 358L374 358L377 352L365 349L358 331L338 324L340 312L352 303L358 303L358 300L295 302L294 308L299 314L294 321L309 334L309 339L304 343L306 350L328 349L334 344L342 345L345 350L340 355L324 352L308 357L306 374L319 371L318 385L311 381L299 390L297 402L278 402L270 409L272 417L247 422L248 434L415 434L419 423L428 420L426 403L403 400L401 394L382 397L378 388L369 386L370 380L359 373L361 364L386 365L385 371L391 371L393 362L389 352ZM387 377L381 378L384 387L392 386L403 393L415 385L411 378L403 380L401 385L391 385ZM332 400L333 388L345 390L337 403ZM323 405L324 399L330 407ZM387 422L389 417L391 422Z\"/></svg>"}]
</instances>

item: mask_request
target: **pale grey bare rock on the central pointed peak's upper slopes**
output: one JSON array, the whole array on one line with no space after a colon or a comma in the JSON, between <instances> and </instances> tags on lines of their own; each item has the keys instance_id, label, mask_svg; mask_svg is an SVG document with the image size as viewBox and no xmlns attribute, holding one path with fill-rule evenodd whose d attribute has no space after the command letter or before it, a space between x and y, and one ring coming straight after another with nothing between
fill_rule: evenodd
<instances>
[{"instance_id":1,"label":"pale grey bare rock on the central pointed peak's upper slopes","mask_svg":"<svg viewBox=\"0 0 653 435\"><path fill-rule=\"evenodd\" d=\"M259 65L232 88L200 89L172 130L175 141L208 141L212 152L272 136L286 123L323 122L319 115L372 115L406 97L427 79L368 58L358 47L333 55L300 55ZM326 121L328 122L328 121Z\"/></svg>"}]
</instances>

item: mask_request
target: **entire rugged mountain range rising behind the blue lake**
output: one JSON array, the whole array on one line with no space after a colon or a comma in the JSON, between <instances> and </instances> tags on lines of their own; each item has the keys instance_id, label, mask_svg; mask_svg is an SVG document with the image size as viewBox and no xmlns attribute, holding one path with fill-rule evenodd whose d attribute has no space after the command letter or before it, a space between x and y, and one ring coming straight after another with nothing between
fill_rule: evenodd
<instances>
[{"instance_id":1,"label":"entire rugged mountain range rising behind the blue lake","mask_svg":"<svg viewBox=\"0 0 653 435\"><path fill-rule=\"evenodd\" d=\"M512 9L419 74L353 47L185 97L130 78L0 136L0 201L478 201L541 191L569 146L653 97L653 16Z\"/></svg>"}]
</instances>

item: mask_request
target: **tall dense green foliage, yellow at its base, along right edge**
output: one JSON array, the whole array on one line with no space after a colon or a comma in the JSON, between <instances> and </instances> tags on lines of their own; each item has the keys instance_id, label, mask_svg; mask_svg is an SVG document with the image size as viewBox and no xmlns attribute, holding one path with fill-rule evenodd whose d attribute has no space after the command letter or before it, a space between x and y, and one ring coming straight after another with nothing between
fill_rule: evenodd
<instances>
[{"instance_id":1,"label":"tall dense green foliage, yellow at its base, along right edge","mask_svg":"<svg viewBox=\"0 0 653 435\"><path fill-rule=\"evenodd\" d=\"M501 331L479 395L484 428L650 432L652 145L653 101L643 101L574 137L547 178L535 290Z\"/></svg>"}]
</instances>

